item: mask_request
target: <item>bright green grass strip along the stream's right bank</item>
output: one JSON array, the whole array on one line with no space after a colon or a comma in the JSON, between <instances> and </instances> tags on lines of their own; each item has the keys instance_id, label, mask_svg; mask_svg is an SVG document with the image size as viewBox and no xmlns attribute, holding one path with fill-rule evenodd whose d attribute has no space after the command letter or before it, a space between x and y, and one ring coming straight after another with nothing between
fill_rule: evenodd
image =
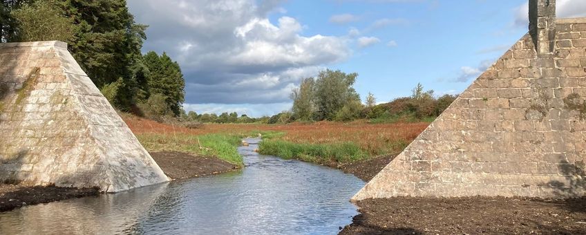
<instances>
[{"instance_id":1,"label":"bright green grass strip along the stream's right bank","mask_svg":"<svg viewBox=\"0 0 586 235\"><path fill-rule=\"evenodd\" d=\"M261 154L305 162L355 162L368 158L368 154L352 142L333 144L297 144L283 140L263 140L259 146Z\"/></svg>"}]
</instances>

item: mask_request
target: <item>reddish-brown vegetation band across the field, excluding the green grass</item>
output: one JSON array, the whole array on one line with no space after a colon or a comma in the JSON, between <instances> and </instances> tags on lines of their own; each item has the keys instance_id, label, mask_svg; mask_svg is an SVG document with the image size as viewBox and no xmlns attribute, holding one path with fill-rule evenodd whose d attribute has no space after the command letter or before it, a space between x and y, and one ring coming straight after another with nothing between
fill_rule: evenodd
<instances>
[{"instance_id":1,"label":"reddish-brown vegetation band across the field, excluding the green grass","mask_svg":"<svg viewBox=\"0 0 586 235\"><path fill-rule=\"evenodd\" d=\"M354 142L372 155L382 152L401 151L409 142L422 133L429 123L368 124L364 122L316 122L312 124L205 124L200 129L187 129L181 126L162 124L144 118L124 115L124 121L135 134L142 133L187 133L204 135L207 133L251 134L253 131L278 131L280 137L295 143L328 144Z\"/></svg>"}]
</instances>

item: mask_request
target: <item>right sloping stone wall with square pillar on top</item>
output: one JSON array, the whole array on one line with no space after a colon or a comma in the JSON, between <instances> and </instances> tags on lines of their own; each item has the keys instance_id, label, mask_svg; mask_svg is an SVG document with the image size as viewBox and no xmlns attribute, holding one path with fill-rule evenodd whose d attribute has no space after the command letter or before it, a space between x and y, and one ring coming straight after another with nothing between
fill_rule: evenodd
<instances>
[{"instance_id":1,"label":"right sloping stone wall with square pillar on top","mask_svg":"<svg viewBox=\"0 0 586 235\"><path fill-rule=\"evenodd\" d=\"M529 6L529 33L352 200L586 195L586 18Z\"/></svg>"}]
</instances>

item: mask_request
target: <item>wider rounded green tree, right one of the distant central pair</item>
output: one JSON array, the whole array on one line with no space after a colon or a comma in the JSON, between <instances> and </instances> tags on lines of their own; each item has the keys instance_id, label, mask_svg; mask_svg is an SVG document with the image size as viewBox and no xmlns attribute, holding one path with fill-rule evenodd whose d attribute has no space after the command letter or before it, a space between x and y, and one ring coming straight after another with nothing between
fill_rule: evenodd
<instances>
[{"instance_id":1,"label":"wider rounded green tree, right one of the distant central pair","mask_svg":"<svg viewBox=\"0 0 586 235\"><path fill-rule=\"evenodd\" d=\"M344 104L360 101L358 93L352 87L357 73L346 74L327 69L321 71L315 82L315 103L318 120L334 120L336 113Z\"/></svg>"}]
</instances>

